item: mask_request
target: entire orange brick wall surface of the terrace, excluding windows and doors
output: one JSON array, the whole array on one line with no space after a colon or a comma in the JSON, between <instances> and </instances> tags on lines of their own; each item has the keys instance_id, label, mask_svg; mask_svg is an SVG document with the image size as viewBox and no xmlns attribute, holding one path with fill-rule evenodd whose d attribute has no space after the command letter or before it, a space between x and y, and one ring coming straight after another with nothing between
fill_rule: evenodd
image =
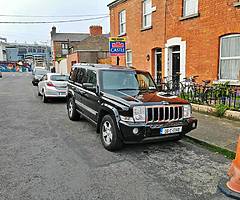
<instances>
[{"instance_id":1,"label":"entire orange brick wall surface of the terrace, excluding windows and doors","mask_svg":"<svg viewBox=\"0 0 240 200\"><path fill-rule=\"evenodd\" d=\"M118 14L126 10L127 48L132 49L133 66L153 72L154 51L163 48L168 39L181 37L186 41L186 75L199 75L199 80L218 78L219 43L222 35L240 33L240 9L233 6L237 0L199 0L200 16L180 20L183 0L152 0L156 11L152 14L153 27L141 31L141 1L128 0L110 9L111 36L118 36ZM165 31L166 11L166 31ZM150 61L146 56L150 55ZM115 64L115 58L112 58ZM121 58L125 65L125 58Z\"/></svg>"}]
</instances>

